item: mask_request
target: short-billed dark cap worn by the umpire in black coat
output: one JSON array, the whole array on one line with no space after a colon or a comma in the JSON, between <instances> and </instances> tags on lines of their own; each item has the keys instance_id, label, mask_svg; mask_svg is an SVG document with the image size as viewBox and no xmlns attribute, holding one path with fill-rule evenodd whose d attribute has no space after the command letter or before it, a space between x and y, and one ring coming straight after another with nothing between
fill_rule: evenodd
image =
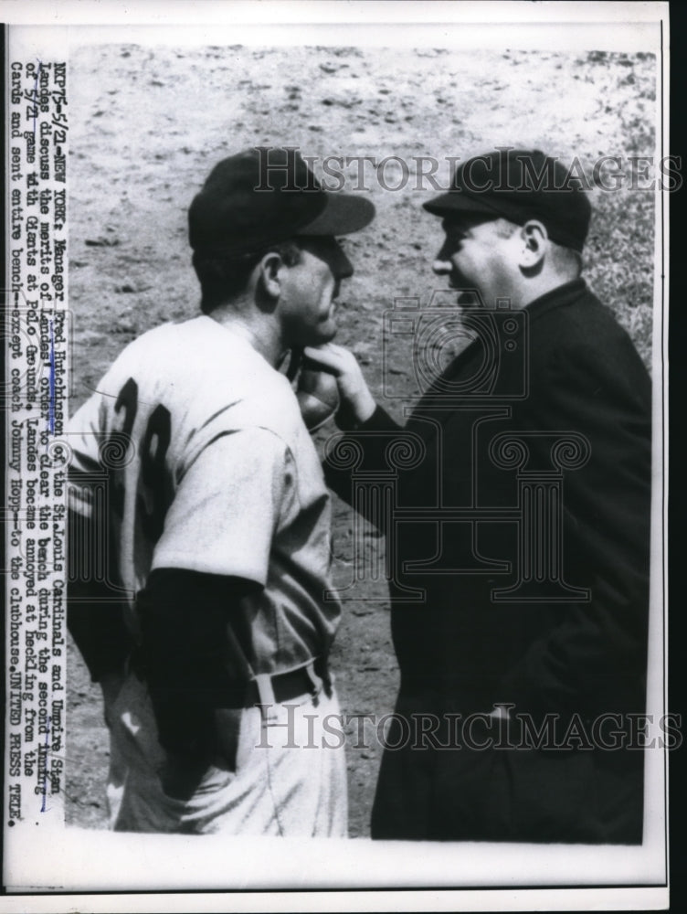
<instances>
[{"instance_id":1,"label":"short-billed dark cap worn by the umpire in black coat","mask_svg":"<svg viewBox=\"0 0 687 914\"><path fill-rule=\"evenodd\" d=\"M449 192L423 204L435 216L481 213L516 225L537 219L549 237L581 251L591 205L572 170L539 149L503 147L458 165Z\"/></svg>"}]
</instances>

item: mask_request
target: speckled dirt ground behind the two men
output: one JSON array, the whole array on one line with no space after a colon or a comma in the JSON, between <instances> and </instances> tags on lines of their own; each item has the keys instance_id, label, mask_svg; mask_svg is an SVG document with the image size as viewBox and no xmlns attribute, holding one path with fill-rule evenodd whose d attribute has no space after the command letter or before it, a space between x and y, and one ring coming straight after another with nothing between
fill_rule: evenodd
<instances>
[{"instance_id":1,"label":"speckled dirt ground behind the two men","mask_svg":"<svg viewBox=\"0 0 687 914\"><path fill-rule=\"evenodd\" d=\"M70 61L69 307L76 409L135 336L193 316L196 278L186 209L217 160L252 145L290 144L325 156L465 158L494 145L542 148L592 175L601 155L654 151L656 59L648 54L412 50L392 48L74 49ZM318 171L320 165L315 165ZM402 184L400 165L383 175ZM350 169L351 183L356 168ZM395 170L396 169L396 170ZM322 176L322 172L320 171ZM352 345L375 394L401 418L418 383L412 359L382 334L396 298L426 304L441 288L431 260L439 222L414 176L386 189L365 165L377 218L346 242L356 273L344 285L338 342ZM587 279L618 314L648 365L653 297L653 195L595 187ZM384 350L384 351L383 351ZM445 354L441 354L443 357ZM386 399L385 399L386 397ZM333 429L318 433L322 443ZM334 504L335 578L353 575L354 538L373 555L372 530ZM393 709L398 671L383 579L351 591L333 668L349 715ZM421 610L418 610L421 611ZM71 646L70 824L106 826L107 731L100 696ZM381 755L372 731L348 734L350 833L369 834ZM372 732L374 736L374 732Z\"/></svg>"}]
</instances>

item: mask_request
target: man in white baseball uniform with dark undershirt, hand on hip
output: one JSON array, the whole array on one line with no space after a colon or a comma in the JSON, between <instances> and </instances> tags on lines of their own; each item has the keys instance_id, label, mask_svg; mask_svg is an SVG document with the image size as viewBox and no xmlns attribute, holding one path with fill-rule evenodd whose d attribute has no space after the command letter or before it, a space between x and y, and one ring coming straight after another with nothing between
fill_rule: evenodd
<instances>
[{"instance_id":1,"label":"man in white baseball uniform with dark undershirt, hand on hip","mask_svg":"<svg viewBox=\"0 0 687 914\"><path fill-rule=\"evenodd\" d=\"M220 162L189 209L203 314L135 340L70 422L69 628L116 830L346 834L329 495L277 368L333 338L335 236L373 216L293 149Z\"/></svg>"}]
</instances>

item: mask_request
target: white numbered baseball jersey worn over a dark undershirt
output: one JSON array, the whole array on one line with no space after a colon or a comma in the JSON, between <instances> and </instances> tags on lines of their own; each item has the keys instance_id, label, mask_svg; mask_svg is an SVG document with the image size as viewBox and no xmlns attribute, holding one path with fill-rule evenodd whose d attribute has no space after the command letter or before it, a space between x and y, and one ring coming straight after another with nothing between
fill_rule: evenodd
<instances>
[{"instance_id":1,"label":"white numbered baseball jersey worn over a dark undershirt","mask_svg":"<svg viewBox=\"0 0 687 914\"><path fill-rule=\"evenodd\" d=\"M69 435L71 506L105 498L134 633L151 570L190 569L262 585L241 604L256 675L328 653L329 494L291 385L247 340L206 315L144 334Z\"/></svg>"}]
</instances>

